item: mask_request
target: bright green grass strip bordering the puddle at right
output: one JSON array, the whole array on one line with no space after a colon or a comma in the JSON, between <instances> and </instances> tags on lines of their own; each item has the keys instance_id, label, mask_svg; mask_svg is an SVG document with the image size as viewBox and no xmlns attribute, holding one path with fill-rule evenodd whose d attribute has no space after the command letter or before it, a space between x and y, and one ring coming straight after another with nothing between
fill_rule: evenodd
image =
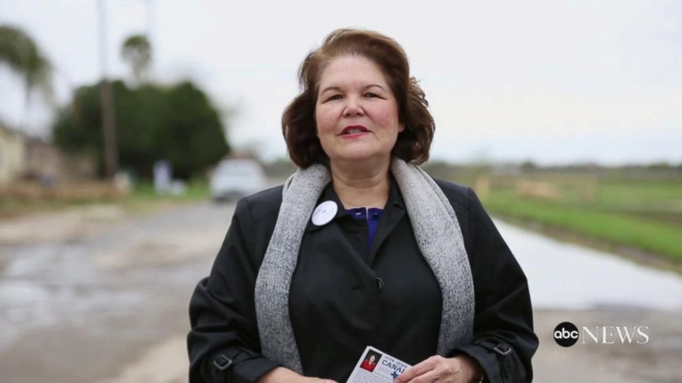
<instances>
[{"instance_id":1,"label":"bright green grass strip bordering the puddle at right","mask_svg":"<svg viewBox=\"0 0 682 383\"><path fill-rule=\"evenodd\" d=\"M520 196L493 188L485 200L492 213L540 222L590 239L630 246L682 262L682 183L595 183L589 198L571 182L557 198ZM571 189L571 185L579 185Z\"/></svg>"}]
</instances>

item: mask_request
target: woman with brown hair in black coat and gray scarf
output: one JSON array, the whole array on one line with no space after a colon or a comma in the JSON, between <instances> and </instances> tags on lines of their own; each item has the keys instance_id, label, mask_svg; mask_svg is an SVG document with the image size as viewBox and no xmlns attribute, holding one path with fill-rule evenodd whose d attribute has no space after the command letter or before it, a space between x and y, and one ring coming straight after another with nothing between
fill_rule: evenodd
<instances>
[{"instance_id":1,"label":"woman with brown hair in black coat and gray scarf","mask_svg":"<svg viewBox=\"0 0 682 383\"><path fill-rule=\"evenodd\" d=\"M332 32L285 111L285 185L239 201L190 302L190 382L345 382L366 346L395 380L530 382L525 275L472 189L433 180L434 122L403 49Z\"/></svg>"}]
</instances>

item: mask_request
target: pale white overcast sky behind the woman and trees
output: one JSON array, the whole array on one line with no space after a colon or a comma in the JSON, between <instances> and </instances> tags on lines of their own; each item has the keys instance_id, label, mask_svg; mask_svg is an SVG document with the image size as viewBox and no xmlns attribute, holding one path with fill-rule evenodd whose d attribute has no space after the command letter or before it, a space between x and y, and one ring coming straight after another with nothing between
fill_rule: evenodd
<instances>
[{"instance_id":1,"label":"pale white overcast sky behind the woman and trees","mask_svg":"<svg viewBox=\"0 0 682 383\"><path fill-rule=\"evenodd\" d=\"M682 1L104 0L107 66L129 78L126 36L149 31L153 77L199 82L235 146L284 156L281 113L307 52L338 27L395 38L436 120L432 158L544 164L682 162ZM147 6L147 4L151 6ZM58 100L98 80L94 0L0 0L56 66ZM44 132L0 67L0 119ZM36 100L36 104L40 101Z\"/></svg>"}]
</instances>

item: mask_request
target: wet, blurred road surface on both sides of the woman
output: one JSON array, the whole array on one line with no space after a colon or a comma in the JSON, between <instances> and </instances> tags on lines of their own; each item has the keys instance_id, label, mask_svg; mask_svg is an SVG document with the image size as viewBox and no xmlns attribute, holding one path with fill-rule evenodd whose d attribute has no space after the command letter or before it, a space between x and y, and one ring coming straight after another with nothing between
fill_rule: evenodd
<instances>
[{"instance_id":1,"label":"wet, blurred road surface on both sides of the woman","mask_svg":"<svg viewBox=\"0 0 682 383\"><path fill-rule=\"evenodd\" d=\"M0 381L186 382L189 297L233 209L102 205L0 222ZM536 382L679 382L679 275L496 223L529 279ZM564 349L551 338L561 321L649 325L651 340Z\"/></svg>"}]
</instances>

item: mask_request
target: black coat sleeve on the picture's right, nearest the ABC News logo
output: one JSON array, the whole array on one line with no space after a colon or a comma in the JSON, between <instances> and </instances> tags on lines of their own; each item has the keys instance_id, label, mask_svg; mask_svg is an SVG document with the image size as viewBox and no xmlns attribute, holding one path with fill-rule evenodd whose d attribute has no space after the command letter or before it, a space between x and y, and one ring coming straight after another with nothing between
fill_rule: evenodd
<instances>
[{"instance_id":1,"label":"black coat sleeve on the picture's right, nearest the ABC News logo","mask_svg":"<svg viewBox=\"0 0 682 383\"><path fill-rule=\"evenodd\" d=\"M468 193L474 340L450 356L467 353L481 364L489 382L531 382L538 337L528 282L481 201L472 189Z\"/></svg>"}]
</instances>

